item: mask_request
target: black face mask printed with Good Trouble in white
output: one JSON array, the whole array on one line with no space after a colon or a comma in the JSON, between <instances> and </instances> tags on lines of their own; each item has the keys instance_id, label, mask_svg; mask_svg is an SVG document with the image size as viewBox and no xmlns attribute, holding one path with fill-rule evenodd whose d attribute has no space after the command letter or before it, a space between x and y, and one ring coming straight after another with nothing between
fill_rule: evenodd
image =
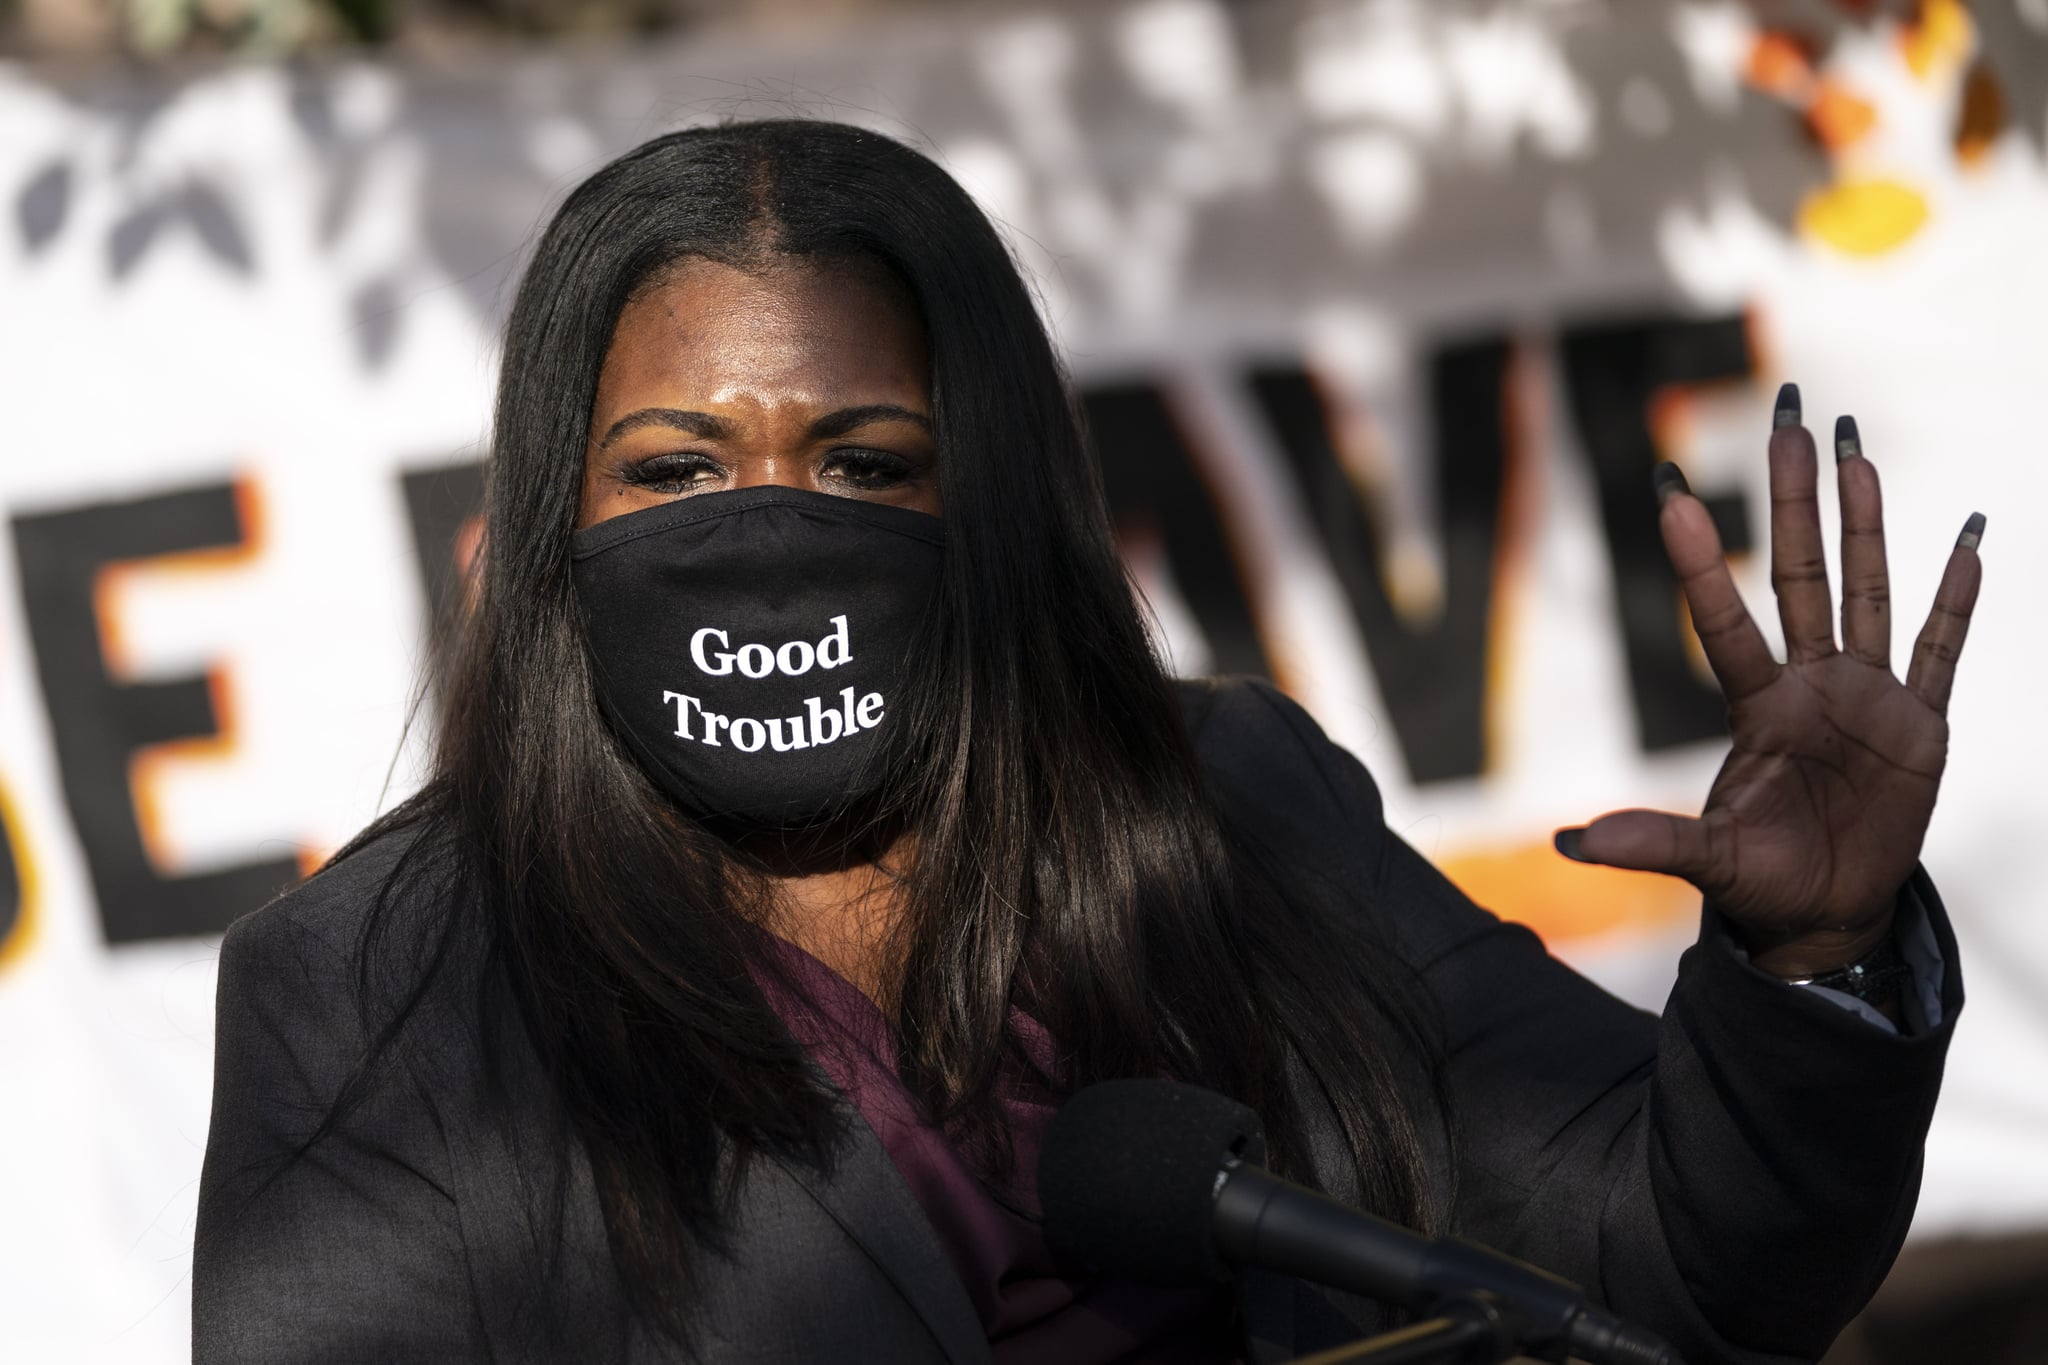
<instances>
[{"instance_id":1,"label":"black face mask printed with Good Trouble in white","mask_svg":"<svg viewBox=\"0 0 2048 1365\"><path fill-rule=\"evenodd\" d=\"M690 814L817 825L874 794L938 587L924 512L756 487L571 538L598 700Z\"/></svg>"}]
</instances>

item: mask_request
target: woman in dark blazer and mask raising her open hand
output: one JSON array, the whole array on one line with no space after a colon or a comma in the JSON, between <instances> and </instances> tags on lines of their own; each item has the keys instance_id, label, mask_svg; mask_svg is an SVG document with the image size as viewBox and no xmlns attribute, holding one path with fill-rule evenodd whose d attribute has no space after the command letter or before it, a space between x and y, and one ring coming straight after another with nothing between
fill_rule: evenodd
<instances>
[{"instance_id":1,"label":"woman in dark blazer and mask raising her open hand","mask_svg":"<svg viewBox=\"0 0 2048 1365\"><path fill-rule=\"evenodd\" d=\"M1047 1117L1147 1074L1696 1363L1819 1355L1907 1226L1960 1007L1915 860L1980 532L1901 686L1876 475L1837 452L1843 651L1788 389L1786 665L1663 469L1735 753L1702 819L1559 841L1708 894L1659 1021L1464 900L1290 702L1161 675L1030 297L936 166L795 121L639 147L512 311L434 778L223 945L195 1355L1231 1361L1372 1328L1051 1263Z\"/></svg>"}]
</instances>

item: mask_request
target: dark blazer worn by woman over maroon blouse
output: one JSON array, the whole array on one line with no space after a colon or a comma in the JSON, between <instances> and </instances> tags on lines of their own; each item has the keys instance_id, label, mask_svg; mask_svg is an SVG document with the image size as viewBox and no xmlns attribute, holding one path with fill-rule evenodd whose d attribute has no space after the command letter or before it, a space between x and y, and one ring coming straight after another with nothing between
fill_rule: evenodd
<instances>
[{"instance_id":1,"label":"dark blazer worn by woman over maroon blouse","mask_svg":"<svg viewBox=\"0 0 2048 1365\"><path fill-rule=\"evenodd\" d=\"M1278 692L1192 684L1184 698L1229 817L1376 917L1440 999L1456 1124L1430 1115L1425 1142L1456 1179L1458 1232L1579 1281L1692 1365L1819 1357L1905 1236L1962 1007L1925 874L1901 896L1948 964L1939 1027L1892 1036L1755 972L1712 911L1659 1019L1466 900L1389 833L1366 769ZM555 1111L461 937L393 1060L285 1162L387 1017L377 982L397 990L416 972L422 896L401 888L391 931L358 943L397 853L395 839L362 849L221 945L195 1361L674 1359L627 1310L588 1166L549 1177ZM377 958L369 999L362 952ZM498 1074L494 1050L510 1058ZM1341 1195L1327 1101L1305 1076L1296 1093ZM918 1201L852 1128L829 1175L756 1162L731 1254L700 1285L707 1359L989 1359ZM1272 1275L1247 1275L1241 1297L1260 1361L1376 1326L1370 1306ZM571 1322L573 1340L545 1340L543 1318Z\"/></svg>"}]
</instances>

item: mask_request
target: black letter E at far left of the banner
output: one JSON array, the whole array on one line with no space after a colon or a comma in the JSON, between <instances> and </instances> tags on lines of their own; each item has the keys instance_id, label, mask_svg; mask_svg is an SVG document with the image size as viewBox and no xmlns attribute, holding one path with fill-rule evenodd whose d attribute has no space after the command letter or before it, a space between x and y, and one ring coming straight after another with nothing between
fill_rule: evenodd
<instances>
[{"instance_id":1,"label":"black letter E at far left of the banner","mask_svg":"<svg viewBox=\"0 0 2048 1365\"><path fill-rule=\"evenodd\" d=\"M164 876L135 823L129 759L172 739L213 735L203 677L121 684L106 673L92 589L100 569L242 540L233 485L14 518L20 596L43 706L109 943L219 933L299 880L289 857Z\"/></svg>"}]
</instances>

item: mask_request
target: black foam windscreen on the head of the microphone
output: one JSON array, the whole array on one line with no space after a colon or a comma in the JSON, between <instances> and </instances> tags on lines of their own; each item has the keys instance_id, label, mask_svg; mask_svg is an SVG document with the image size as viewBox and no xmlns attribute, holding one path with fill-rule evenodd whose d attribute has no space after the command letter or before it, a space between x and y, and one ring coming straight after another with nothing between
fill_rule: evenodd
<instances>
[{"instance_id":1,"label":"black foam windscreen on the head of the microphone","mask_svg":"<svg viewBox=\"0 0 2048 1365\"><path fill-rule=\"evenodd\" d=\"M1233 1156L1266 1160L1266 1130L1235 1099L1178 1081L1102 1081L1053 1117L1038 1148L1044 1236L1063 1267L1149 1285L1217 1283L1217 1187Z\"/></svg>"}]
</instances>

